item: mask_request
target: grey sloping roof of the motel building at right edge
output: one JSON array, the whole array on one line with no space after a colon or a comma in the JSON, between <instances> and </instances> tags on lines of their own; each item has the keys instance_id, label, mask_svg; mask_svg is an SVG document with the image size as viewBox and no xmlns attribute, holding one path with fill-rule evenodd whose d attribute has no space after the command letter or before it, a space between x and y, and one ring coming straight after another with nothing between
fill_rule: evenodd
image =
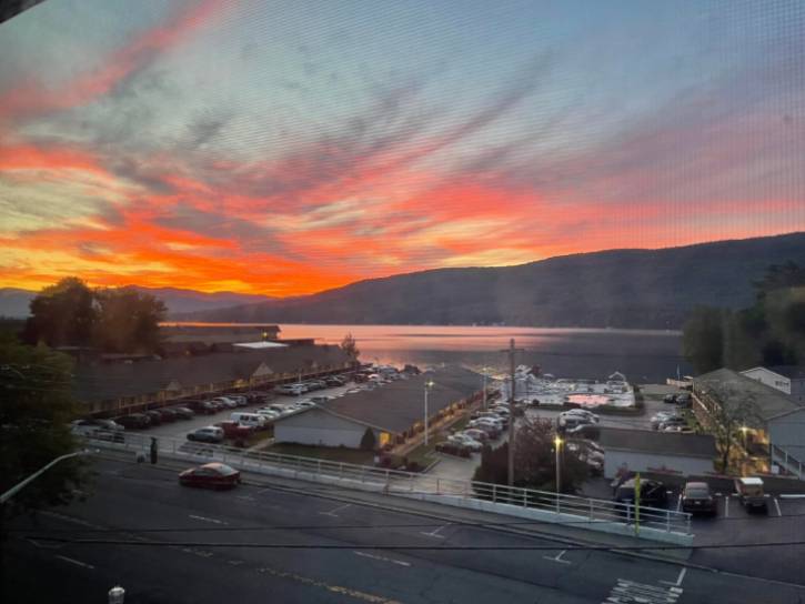
<instances>
[{"instance_id":1,"label":"grey sloping roof of the motel building at right edge","mask_svg":"<svg viewBox=\"0 0 805 604\"><path fill-rule=\"evenodd\" d=\"M738 405L748 401L756 419L763 422L803 409L777 389L726 368L694 378L693 384L696 390L711 390L722 404Z\"/></svg>"}]
</instances>

